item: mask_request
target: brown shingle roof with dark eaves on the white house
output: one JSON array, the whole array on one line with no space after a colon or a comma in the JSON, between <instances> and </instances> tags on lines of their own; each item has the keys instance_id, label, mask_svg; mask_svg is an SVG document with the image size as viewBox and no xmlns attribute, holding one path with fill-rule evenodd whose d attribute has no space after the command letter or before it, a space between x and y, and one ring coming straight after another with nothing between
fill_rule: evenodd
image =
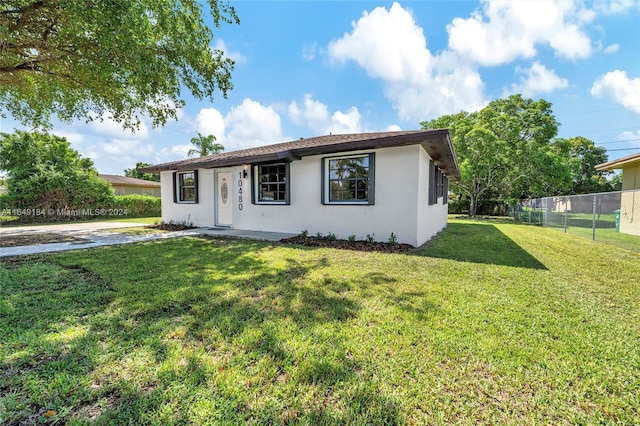
<instances>
[{"instance_id":1,"label":"brown shingle roof with dark eaves on the white house","mask_svg":"<svg viewBox=\"0 0 640 426\"><path fill-rule=\"evenodd\" d=\"M145 173L299 160L309 155L420 144L450 180L460 179L458 162L447 129L326 135L291 142L188 158L141 168Z\"/></svg>"}]
</instances>

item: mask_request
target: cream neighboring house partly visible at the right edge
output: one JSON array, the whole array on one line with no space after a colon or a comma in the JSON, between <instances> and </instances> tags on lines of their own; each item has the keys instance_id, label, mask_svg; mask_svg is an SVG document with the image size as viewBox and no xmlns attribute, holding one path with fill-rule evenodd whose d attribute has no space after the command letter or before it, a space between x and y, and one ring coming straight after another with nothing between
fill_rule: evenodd
<instances>
[{"instance_id":1,"label":"cream neighboring house partly visible at the right edge","mask_svg":"<svg viewBox=\"0 0 640 426\"><path fill-rule=\"evenodd\" d=\"M620 232L640 235L640 153L596 166L596 170L614 169L622 169Z\"/></svg>"}]
</instances>

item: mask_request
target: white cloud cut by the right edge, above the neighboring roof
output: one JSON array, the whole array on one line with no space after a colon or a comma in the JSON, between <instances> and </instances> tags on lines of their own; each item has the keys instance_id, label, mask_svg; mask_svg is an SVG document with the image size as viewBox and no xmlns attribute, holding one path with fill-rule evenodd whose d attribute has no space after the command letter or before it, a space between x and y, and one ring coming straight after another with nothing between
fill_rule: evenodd
<instances>
[{"instance_id":1,"label":"white cloud cut by the right edge, above the neighboring roof","mask_svg":"<svg viewBox=\"0 0 640 426\"><path fill-rule=\"evenodd\" d=\"M626 109L640 114L640 78L631 79L626 71L610 71L598 77L591 86L591 94L596 98L613 99Z\"/></svg>"}]
</instances>

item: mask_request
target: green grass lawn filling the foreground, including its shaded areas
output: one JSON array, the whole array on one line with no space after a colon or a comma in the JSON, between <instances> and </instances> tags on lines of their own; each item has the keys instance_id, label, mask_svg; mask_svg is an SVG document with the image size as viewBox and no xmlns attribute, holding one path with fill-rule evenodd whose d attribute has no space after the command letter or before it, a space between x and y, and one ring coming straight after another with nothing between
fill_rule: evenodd
<instances>
[{"instance_id":1,"label":"green grass lawn filling the foreground, including its shaded areas","mask_svg":"<svg viewBox=\"0 0 640 426\"><path fill-rule=\"evenodd\" d=\"M0 423L638 424L640 254L181 238L0 263Z\"/></svg>"}]
</instances>

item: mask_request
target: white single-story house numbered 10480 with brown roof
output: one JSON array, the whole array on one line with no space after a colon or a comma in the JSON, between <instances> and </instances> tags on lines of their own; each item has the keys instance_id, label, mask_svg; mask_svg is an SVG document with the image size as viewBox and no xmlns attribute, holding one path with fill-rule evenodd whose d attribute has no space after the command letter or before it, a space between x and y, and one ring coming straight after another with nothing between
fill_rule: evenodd
<instances>
[{"instance_id":1,"label":"white single-story house numbered 10480 with brown roof","mask_svg":"<svg viewBox=\"0 0 640 426\"><path fill-rule=\"evenodd\" d=\"M419 246L447 226L448 130L327 135L157 164L162 219Z\"/></svg>"}]
</instances>

